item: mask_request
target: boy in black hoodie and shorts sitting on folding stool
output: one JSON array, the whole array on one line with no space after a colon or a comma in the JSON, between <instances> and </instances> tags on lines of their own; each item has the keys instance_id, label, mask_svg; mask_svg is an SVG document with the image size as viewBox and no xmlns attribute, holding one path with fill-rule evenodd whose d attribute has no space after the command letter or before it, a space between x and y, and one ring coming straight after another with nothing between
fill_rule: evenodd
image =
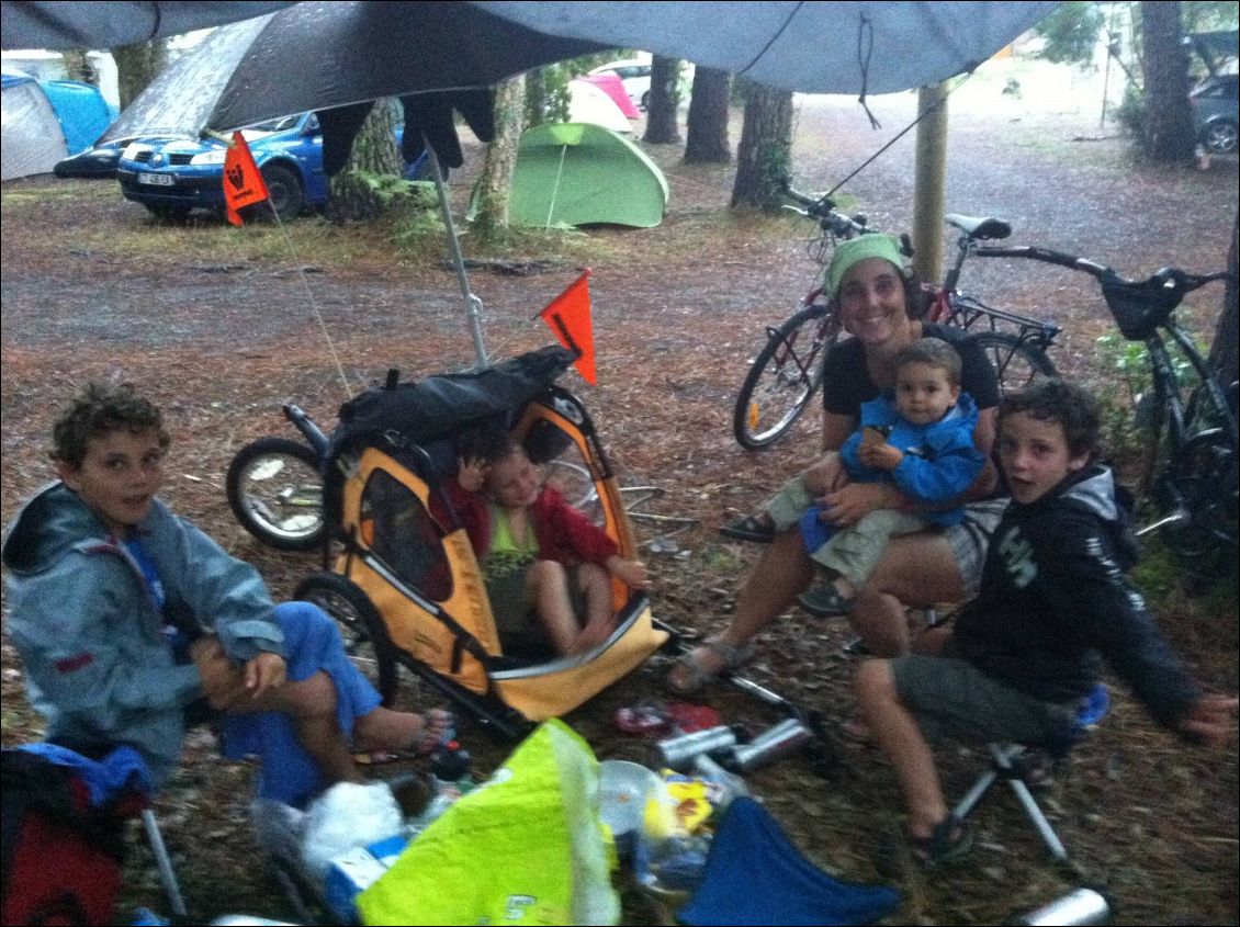
<instances>
[{"instance_id":1,"label":"boy in black hoodie and shorts sitting on folding stool","mask_svg":"<svg viewBox=\"0 0 1240 927\"><path fill-rule=\"evenodd\" d=\"M1221 741L1234 698L1204 694L1162 638L1123 571L1136 559L1111 471L1094 460L1092 397L1042 380L1006 397L998 451L1012 493L978 597L919 654L857 670L862 711L904 793L905 839L925 864L963 855L929 739L1053 742L1073 727L1100 656L1162 725ZM937 656L930 656L937 651Z\"/></svg>"}]
</instances>

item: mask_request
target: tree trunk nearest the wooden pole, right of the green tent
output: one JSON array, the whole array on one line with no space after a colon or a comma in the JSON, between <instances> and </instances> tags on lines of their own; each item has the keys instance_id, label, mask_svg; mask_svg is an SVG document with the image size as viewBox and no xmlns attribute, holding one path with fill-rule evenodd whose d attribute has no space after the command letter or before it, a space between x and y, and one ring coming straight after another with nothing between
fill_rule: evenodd
<instances>
[{"instance_id":1,"label":"tree trunk nearest the wooden pole, right of the green tent","mask_svg":"<svg viewBox=\"0 0 1240 927\"><path fill-rule=\"evenodd\" d=\"M737 149L732 207L779 209L791 151L792 92L750 83L745 93L740 147Z\"/></svg>"}]
</instances>

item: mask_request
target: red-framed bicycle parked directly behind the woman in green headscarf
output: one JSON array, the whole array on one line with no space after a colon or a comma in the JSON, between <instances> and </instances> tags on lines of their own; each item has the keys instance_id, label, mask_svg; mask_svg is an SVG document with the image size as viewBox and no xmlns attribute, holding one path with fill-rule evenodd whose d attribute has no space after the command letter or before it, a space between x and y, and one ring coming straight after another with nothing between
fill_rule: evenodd
<instances>
[{"instance_id":1,"label":"red-framed bicycle parked directly behind the woman in green headscarf","mask_svg":"<svg viewBox=\"0 0 1240 927\"><path fill-rule=\"evenodd\" d=\"M812 257L820 264L826 263L828 245L836 239L870 231L864 217L839 213L830 197L815 198L789 186L784 192L804 207L796 212L818 222L822 235L815 242ZM994 366L1001 390L1019 389L1039 376L1053 377L1055 366L1047 351L1059 326L993 309L956 289L968 257L987 250L978 243L1007 238L1011 226L997 218L957 214L946 216L945 221L959 228L961 235L956 261L942 286L923 288L930 304L928 321L968 330L985 319L987 328L976 333L976 341ZM911 257L908 237L901 240L905 255ZM1001 325L1014 327L1014 332L1001 330ZM826 348L835 345L842 327L835 304L822 299L822 289L817 288L801 300L801 307L790 319L766 328L766 343L754 358L733 408L732 430L742 447L769 447L796 423L822 385Z\"/></svg>"}]
</instances>

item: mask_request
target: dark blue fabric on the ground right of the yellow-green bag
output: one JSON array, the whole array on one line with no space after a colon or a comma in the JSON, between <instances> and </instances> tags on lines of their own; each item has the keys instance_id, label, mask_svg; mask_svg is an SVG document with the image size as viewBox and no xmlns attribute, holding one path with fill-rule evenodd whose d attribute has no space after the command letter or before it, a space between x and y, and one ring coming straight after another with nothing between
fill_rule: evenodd
<instances>
[{"instance_id":1,"label":"dark blue fabric on the ground right of the yellow-green bag","mask_svg":"<svg viewBox=\"0 0 1240 927\"><path fill-rule=\"evenodd\" d=\"M676 918L688 925L851 925L890 915L900 894L851 885L812 865L751 798L737 798L711 841L702 886Z\"/></svg>"}]
</instances>

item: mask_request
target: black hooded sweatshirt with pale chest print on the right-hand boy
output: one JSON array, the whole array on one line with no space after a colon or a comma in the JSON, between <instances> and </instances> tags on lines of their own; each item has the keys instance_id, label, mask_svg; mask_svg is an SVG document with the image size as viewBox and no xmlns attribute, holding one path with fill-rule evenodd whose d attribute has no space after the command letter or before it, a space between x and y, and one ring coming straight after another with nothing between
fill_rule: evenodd
<instances>
[{"instance_id":1,"label":"black hooded sweatshirt with pale chest print on the right-hand boy","mask_svg":"<svg viewBox=\"0 0 1240 927\"><path fill-rule=\"evenodd\" d=\"M1176 727L1202 692L1125 576L1136 554L1102 465L1029 504L1013 501L945 656L1054 703L1085 696L1101 656L1157 721Z\"/></svg>"}]
</instances>

